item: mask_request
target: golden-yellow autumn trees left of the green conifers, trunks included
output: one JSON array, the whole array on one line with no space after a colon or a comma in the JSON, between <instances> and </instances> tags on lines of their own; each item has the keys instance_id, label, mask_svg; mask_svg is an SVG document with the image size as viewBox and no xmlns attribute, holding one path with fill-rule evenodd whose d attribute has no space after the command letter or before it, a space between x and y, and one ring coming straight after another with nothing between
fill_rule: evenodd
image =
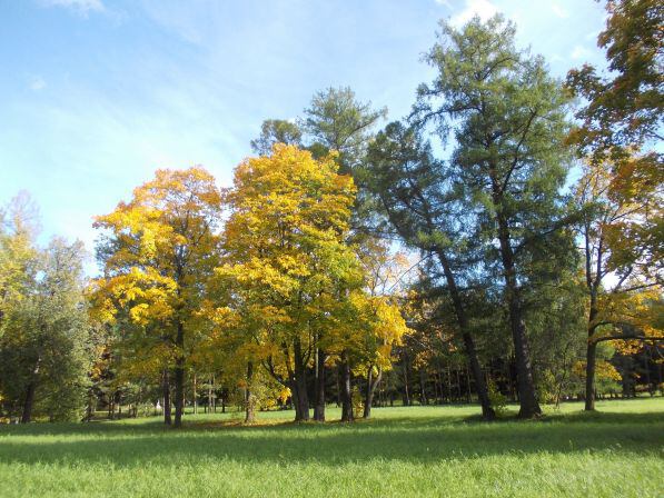
<instances>
[{"instance_id":1,"label":"golden-yellow autumn trees left of the green conifers, trunks included","mask_svg":"<svg viewBox=\"0 0 664 498\"><path fill-rule=\"evenodd\" d=\"M97 219L105 277L95 310L125 362L153 378L172 371L176 426L186 375L209 361L241 387L249 421L285 391L307 420L315 361L316 376L336 362L348 375L389 368L406 325L392 298L367 291L349 233L356 189L337 169L333 155L276 145L239 165L227 191L199 168L158 171Z\"/></svg>"}]
</instances>

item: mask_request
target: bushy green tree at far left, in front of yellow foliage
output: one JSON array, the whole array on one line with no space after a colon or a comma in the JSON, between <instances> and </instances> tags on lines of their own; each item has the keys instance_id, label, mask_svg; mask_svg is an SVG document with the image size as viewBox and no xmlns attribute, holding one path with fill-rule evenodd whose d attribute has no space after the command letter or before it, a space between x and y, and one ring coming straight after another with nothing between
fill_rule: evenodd
<instances>
[{"instance_id":1,"label":"bushy green tree at far left, in front of yellow foliage","mask_svg":"<svg viewBox=\"0 0 664 498\"><path fill-rule=\"evenodd\" d=\"M82 243L53 239L37 255L34 278L7 315L0 338L0 391L21 421L79 419L93 357L83 296Z\"/></svg>"}]
</instances>

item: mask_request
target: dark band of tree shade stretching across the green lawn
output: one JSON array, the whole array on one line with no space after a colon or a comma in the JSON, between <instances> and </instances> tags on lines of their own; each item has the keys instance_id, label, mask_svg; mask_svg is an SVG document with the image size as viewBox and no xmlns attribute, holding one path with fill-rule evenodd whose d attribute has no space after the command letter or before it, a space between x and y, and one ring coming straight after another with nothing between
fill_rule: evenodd
<instances>
[{"instance_id":1,"label":"dark band of tree shade stretching across the green lawn","mask_svg":"<svg viewBox=\"0 0 664 498\"><path fill-rule=\"evenodd\" d=\"M166 467L196 465L206 459L275 465L316 461L339 466L371 459L425 464L492 455L607 449L627 458L636 454L661 455L663 435L661 414L574 414L546 417L542 421L508 419L493 424L458 417L254 427L210 426L206 421L182 430L163 428L155 420L140 425L28 426L1 430L0 436L6 437L0 439L0 462Z\"/></svg>"}]
</instances>

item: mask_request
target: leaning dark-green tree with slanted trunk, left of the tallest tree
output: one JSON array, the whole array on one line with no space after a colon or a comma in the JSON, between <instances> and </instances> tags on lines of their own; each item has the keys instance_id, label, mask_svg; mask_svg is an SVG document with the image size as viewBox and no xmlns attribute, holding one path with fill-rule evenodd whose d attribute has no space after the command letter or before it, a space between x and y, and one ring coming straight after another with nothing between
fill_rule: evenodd
<instances>
[{"instance_id":1,"label":"leaning dark-green tree with slanted trunk, left of the tallest tree","mask_svg":"<svg viewBox=\"0 0 664 498\"><path fill-rule=\"evenodd\" d=\"M464 249L467 247L465 220L442 162L434 159L430 146L416 129L394 122L376 137L366 171L368 189L377 197L377 203L403 242L438 259L483 417L493 419L495 412L459 285L459 280L470 275L470 271L464 273L470 269L469 255Z\"/></svg>"}]
</instances>

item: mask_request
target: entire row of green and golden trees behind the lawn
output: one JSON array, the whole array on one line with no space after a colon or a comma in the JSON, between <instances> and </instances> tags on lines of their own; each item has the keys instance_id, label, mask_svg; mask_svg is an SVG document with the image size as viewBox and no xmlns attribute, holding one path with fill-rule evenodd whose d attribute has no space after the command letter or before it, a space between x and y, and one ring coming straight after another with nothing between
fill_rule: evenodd
<instances>
[{"instance_id":1,"label":"entire row of green and golden trees behind the lawn","mask_svg":"<svg viewBox=\"0 0 664 498\"><path fill-rule=\"evenodd\" d=\"M180 426L186 400L220 398L248 422L275 405L324 421L335 400L350 421L417 397L493 419L512 398L532 418L569 396L592 410L616 381L661 388L664 9L607 10L610 77L553 78L501 16L443 22L408 117L379 129L385 109L330 88L264 121L231 188L157 171L97 218L85 293L80 247L39 250L14 202L2 411L158 398Z\"/></svg>"}]
</instances>

